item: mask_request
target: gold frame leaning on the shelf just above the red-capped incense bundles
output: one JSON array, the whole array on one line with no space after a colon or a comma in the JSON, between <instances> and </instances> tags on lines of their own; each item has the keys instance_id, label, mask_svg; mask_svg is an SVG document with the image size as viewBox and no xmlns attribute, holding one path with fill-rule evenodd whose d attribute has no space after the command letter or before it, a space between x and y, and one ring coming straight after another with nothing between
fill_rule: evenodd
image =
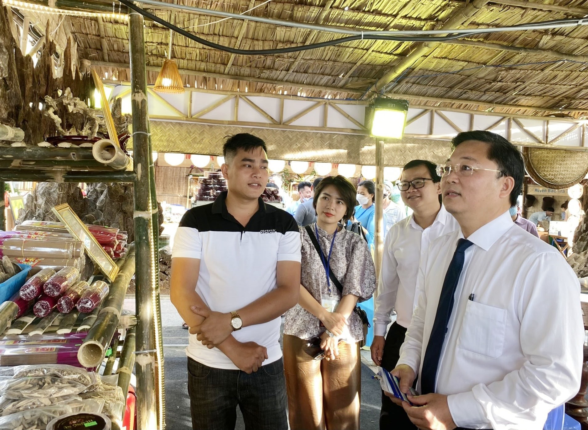
<instances>
[{"instance_id":1,"label":"gold frame leaning on the shelf just above the red-capped incense bundles","mask_svg":"<svg viewBox=\"0 0 588 430\"><path fill-rule=\"evenodd\" d=\"M86 252L92 261L98 266L102 274L108 278L110 282L118 274L118 266L112 260L111 256L106 254L102 246L96 241L96 238L90 233L88 228L83 224L82 220L72 210L68 204L55 206L52 209L53 213L63 222L69 233L78 241L81 241L85 246Z\"/></svg>"}]
</instances>

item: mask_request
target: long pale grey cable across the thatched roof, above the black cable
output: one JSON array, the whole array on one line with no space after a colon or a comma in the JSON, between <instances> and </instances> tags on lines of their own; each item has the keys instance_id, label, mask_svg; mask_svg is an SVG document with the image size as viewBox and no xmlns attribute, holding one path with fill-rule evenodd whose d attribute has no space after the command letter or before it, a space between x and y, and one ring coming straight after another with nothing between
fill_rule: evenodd
<instances>
[{"instance_id":1,"label":"long pale grey cable across the thatched roof, above the black cable","mask_svg":"<svg viewBox=\"0 0 588 430\"><path fill-rule=\"evenodd\" d=\"M538 30L538 29L552 29L552 28L564 28L564 27L573 27L577 25L588 25L588 20L584 18L577 18L573 22L565 22L560 24L543 24L543 25L521 25L521 26L509 26L509 27L496 27L496 28L459 28L459 29L443 29L443 30L392 30L392 31L384 31L384 30L367 30L367 29L346 29L346 28L335 28L325 25L316 25L316 24L305 24L304 22L295 22L295 21L286 21L284 19L273 19L273 18L264 18L263 16L252 16L246 15L243 16L242 14L233 14L231 12L223 12L223 11L215 11L213 9L205 9L205 8L196 8L195 6L186 6L186 5L179 5L179 4L171 4L166 2L161 2L158 0L136 0L137 3L142 3L145 5L151 6L158 6L161 9L181 9L183 11L189 12L196 12L198 14L205 14L205 15L213 15L213 16L226 16L227 18L236 18L236 19L248 19L249 21L256 21L256 22L265 22L266 24L275 24L275 25L283 25L288 27L296 27L296 28L305 28L309 30L316 30L316 31L326 31L330 33L339 33L339 34L351 34L351 35L363 35L363 36L384 36L384 35L394 35L394 36L424 36L424 35L434 35L434 34L461 34L461 33L495 33L495 32L503 32L503 31L524 31L524 30ZM245 13L245 12L243 12ZM211 23L212 24L212 23Z\"/></svg>"}]
</instances>

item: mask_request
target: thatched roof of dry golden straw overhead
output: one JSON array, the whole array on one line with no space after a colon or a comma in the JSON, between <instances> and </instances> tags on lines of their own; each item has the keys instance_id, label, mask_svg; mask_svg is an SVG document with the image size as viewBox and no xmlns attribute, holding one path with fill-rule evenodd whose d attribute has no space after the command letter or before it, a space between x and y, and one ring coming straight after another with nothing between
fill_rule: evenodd
<instances>
[{"instance_id":1,"label":"thatched roof of dry golden straw overhead","mask_svg":"<svg viewBox=\"0 0 588 430\"><path fill-rule=\"evenodd\" d=\"M235 13L262 3L166 1ZM583 0L549 0L549 5L536 1L272 0L249 14L375 30L436 29L447 21L462 28L480 28L588 15ZM461 9L473 6L480 7L465 18ZM340 37L239 19L208 25L219 18L144 7L168 21L173 15L176 25L209 41L243 49L281 48ZM102 19L100 24L96 18L74 16L68 21L79 58L101 65L102 75L107 72L109 77L129 79L126 22ZM145 41L148 65L154 66L148 80L153 83L156 68L166 58L169 30L146 21ZM416 51L423 55L415 56ZM174 34L172 58L185 69L183 80L191 87L359 98L379 79L379 86L387 84L381 78L393 71L387 94L402 95L411 104L526 115L546 115L533 107L549 108L576 118L588 112L588 26L485 34L433 44L424 51L423 44L414 42L363 40L300 53L255 56L231 55ZM405 66L407 61L409 66ZM368 92L365 97L373 95Z\"/></svg>"}]
</instances>

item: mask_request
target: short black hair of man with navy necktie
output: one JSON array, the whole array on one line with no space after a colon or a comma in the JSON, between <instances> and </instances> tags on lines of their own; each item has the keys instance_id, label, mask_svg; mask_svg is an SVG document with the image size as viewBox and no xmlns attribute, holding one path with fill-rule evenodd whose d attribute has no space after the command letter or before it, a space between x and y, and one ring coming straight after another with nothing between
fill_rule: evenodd
<instances>
[{"instance_id":1,"label":"short black hair of man with navy necktie","mask_svg":"<svg viewBox=\"0 0 588 430\"><path fill-rule=\"evenodd\" d=\"M497 164L500 170L499 177L504 175L515 179L515 186L510 192L510 206L515 206L517 197L523 189L524 179L524 162L519 149L499 134L474 130L457 134L451 140L452 151L465 141L479 141L490 145L487 156L490 161Z\"/></svg>"}]
</instances>

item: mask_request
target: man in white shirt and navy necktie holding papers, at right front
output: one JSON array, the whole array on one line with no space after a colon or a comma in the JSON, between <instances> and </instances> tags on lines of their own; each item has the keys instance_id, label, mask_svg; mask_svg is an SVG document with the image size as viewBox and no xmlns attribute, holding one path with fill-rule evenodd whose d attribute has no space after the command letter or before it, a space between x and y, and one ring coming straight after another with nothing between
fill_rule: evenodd
<instances>
[{"instance_id":1,"label":"man in white shirt and navy necktie holding papers, at right front","mask_svg":"<svg viewBox=\"0 0 588 430\"><path fill-rule=\"evenodd\" d=\"M392 374L405 393L418 375L421 395L402 406L420 429L541 430L580 386L579 282L510 217L524 176L517 148L487 131L462 132L452 147L437 169L460 229L432 241L419 268Z\"/></svg>"}]
</instances>

